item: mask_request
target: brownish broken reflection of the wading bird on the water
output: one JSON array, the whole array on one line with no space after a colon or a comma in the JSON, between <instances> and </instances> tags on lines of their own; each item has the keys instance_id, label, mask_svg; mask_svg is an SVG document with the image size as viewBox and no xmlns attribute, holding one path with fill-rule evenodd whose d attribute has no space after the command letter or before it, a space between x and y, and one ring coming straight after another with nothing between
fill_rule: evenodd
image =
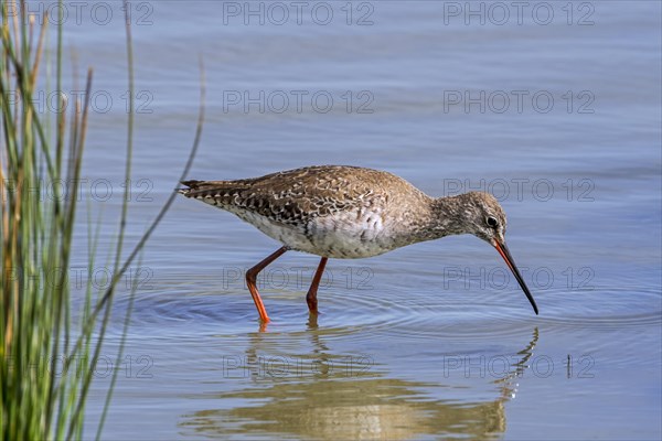
<instances>
[{"instance_id":1,"label":"brownish broken reflection of the wading bird on the water","mask_svg":"<svg viewBox=\"0 0 662 441\"><path fill-rule=\"evenodd\" d=\"M504 405L514 398L516 379L527 369L538 340L536 327L531 341L517 353L513 369L493 381L499 385L498 397L462 402L433 398L425 392L449 385L389 378L385 367L372 364L369 357L334 355L322 342L328 332L319 330L311 315L308 335L314 349L307 357L318 366L337 366L346 363L348 357L355 359L362 365L354 366L352 375L337 368L318 368L295 378L253 375L245 378L250 386L216 396L221 400L250 404L197 411L184 416L181 427L205 435L249 433L320 440L404 440L424 434L498 439L505 431ZM270 335L253 334L246 359L257 359L259 353L274 353Z\"/></svg>"}]
</instances>

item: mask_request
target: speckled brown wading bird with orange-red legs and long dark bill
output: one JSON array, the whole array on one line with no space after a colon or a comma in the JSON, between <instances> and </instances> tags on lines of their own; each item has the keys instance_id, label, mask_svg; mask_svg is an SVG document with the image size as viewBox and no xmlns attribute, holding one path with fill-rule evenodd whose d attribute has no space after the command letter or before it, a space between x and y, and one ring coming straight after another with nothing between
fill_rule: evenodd
<instances>
[{"instance_id":1,"label":"speckled brown wading bird with orange-red legs and long dark bill","mask_svg":"<svg viewBox=\"0 0 662 441\"><path fill-rule=\"evenodd\" d=\"M317 291L329 258L356 259L425 240L472 234L503 257L535 313L537 305L505 246L505 213L489 193L430 197L392 173L319 165L236 181L184 181L192 197L234 213L282 247L246 272L259 318L269 321L257 275L287 250L321 257L306 295L318 313Z\"/></svg>"}]
</instances>

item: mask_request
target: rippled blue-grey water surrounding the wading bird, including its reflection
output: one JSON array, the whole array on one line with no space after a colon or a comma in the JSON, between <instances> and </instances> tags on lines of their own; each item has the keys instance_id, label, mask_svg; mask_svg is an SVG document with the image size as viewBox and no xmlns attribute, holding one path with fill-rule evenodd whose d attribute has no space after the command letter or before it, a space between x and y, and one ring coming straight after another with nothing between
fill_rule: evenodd
<instances>
[{"instance_id":1,"label":"rippled blue-grey water surrounding the wading bird, including its reflection","mask_svg":"<svg viewBox=\"0 0 662 441\"><path fill-rule=\"evenodd\" d=\"M105 4L107 24L83 13L65 33L95 68L85 191L102 252L127 119L121 11ZM317 322L303 300L317 258L288 252L261 279L274 322L259 332L243 272L278 244L178 198L132 267L104 438L660 439L660 3L532 2L520 15L508 2L325 2L300 23L281 4L132 6L129 243L185 162L202 58L190 178L338 163L437 196L490 191L541 314L494 250L460 236L330 261ZM118 295L108 361L129 290ZM107 384L100 372L90 428Z\"/></svg>"}]
</instances>

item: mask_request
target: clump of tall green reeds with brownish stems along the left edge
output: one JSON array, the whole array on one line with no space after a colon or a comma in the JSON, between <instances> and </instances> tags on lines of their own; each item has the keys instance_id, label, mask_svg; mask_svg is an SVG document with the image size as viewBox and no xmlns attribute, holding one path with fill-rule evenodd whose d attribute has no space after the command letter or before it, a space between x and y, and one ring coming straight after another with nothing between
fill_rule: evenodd
<instances>
[{"instance_id":1,"label":"clump of tall green reeds with brownish stems along the left edge","mask_svg":"<svg viewBox=\"0 0 662 441\"><path fill-rule=\"evenodd\" d=\"M62 0L58 2L62 14ZM117 284L170 208L175 193L170 195L126 259L122 259L122 249L129 207L128 200L124 198L119 234L110 249L113 275L108 288L100 292L95 292L92 279L99 220L95 229L88 218L89 280L82 298L79 319L74 325L67 273L77 228L78 185L66 195L45 201L41 195L44 183L79 181L93 73L92 69L87 73L85 100L71 104L68 115L65 111L58 111L54 117L40 115L32 100L39 92L39 80L44 76L39 75L40 66L45 65L46 84L55 83L58 108L64 109L67 104L62 95L63 29L56 26L55 47L49 49L44 45L49 33L47 18L44 15L41 29L35 29L34 20L25 13L25 1L20 0L19 4L20 8L15 0L0 0L0 440L79 439L86 399L109 326ZM9 12L17 10L20 13ZM125 1L125 11L128 10ZM62 15L58 22L63 22ZM50 77L52 73L46 63L51 55L56 65L54 78ZM128 18L127 56L130 104L125 175L128 181L134 152L135 90ZM202 82L195 139L182 179L191 166L202 132L204 78ZM136 289L134 284L121 326L118 361L129 331ZM51 361L55 364L50 365ZM96 429L97 439L111 405L117 374L114 373L106 394Z\"/></svg>"}]
</instances>

